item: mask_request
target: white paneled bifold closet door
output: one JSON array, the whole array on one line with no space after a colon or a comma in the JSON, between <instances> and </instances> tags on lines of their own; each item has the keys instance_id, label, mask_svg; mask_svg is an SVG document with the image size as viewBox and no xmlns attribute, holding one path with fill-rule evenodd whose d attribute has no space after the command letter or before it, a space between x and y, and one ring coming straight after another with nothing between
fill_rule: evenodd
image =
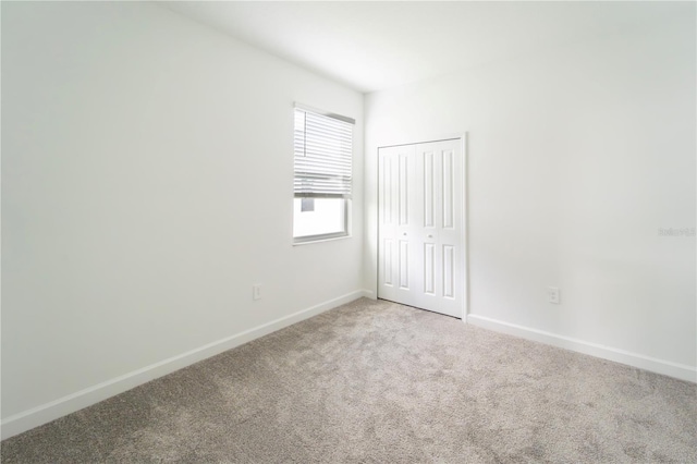
<instances>
[{"instance_id":1,"label":"white paneled bifold closet door","mask_svg":"<svg viewBox=\"0 0 697 464\"><path fill-rule=\"evenodd\" d=\"M461 141L380 148L378 297L462 317Z\"/></svg>"}]
</instances>

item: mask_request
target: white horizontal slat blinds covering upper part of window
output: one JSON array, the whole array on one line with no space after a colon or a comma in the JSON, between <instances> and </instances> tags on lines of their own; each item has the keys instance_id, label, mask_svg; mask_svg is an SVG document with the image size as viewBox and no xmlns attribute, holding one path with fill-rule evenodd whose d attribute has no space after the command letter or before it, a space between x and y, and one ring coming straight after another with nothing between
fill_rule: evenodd
<instances>
[{"instance_id":1,"label":"white horizontal slat blinds covering upper part of window","mask_svg":"<svg viewBox=\"0 0 697 464\"><path fill-rule=\"evenodd\" d=\"M295 107L295 197L351 198L354 120Z\"/></svg>"}]
</instances>

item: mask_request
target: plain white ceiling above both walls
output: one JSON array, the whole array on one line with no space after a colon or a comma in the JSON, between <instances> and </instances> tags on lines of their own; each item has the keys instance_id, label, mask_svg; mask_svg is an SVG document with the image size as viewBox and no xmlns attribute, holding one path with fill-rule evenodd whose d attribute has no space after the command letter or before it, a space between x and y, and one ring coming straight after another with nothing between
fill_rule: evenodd
<instances>
[{"instance_id":1,"label":"plain white ceiling above both walls","mask_svg":"<svg viewBox=\"0 0 697 464\"><path fill-rule=\"evenodd\" d=\"M602 35L694 21L690 2L160 4L369 93Z\"/></svg>"}]
</instances>

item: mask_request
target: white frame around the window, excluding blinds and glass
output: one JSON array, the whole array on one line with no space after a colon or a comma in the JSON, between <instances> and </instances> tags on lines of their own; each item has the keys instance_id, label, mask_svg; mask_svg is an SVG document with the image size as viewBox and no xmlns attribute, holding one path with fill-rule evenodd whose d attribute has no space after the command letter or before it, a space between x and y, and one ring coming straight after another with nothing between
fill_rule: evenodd
<instances>
[{"instance_id":1,"label":"white frame around the window, excluding blinds and glass","mask_svg":"<svg viewBox=\"0 0 697 464\"><path fill-rule=\"evenodd\" d=\"M295 180L296 178L296 171L295 171L295 159L296 159L296 145L295 145L295 135L293 137L293 245L306 245L309 243L316 243L316 242L327 242L327 241L333 241L333 240L340 240L340 239L348 239L352 236L352 197L353 197L353 158L354 158L354 147L355 147L355 143L354 143L354 137L355 137L355 123L356 121L352 118L347 118L341 114L337 114L337 113L331 113L328 111L323 111L323 110L319 110L317 108L313 108L313 107L308 107L306 105L302 105L302 103L297 103L295 102L293 106L293 124L295 124L295 115L296 115L296 111L301 110L304 111L305 113L314 113L320 117L326 117L326 118L331 118L331 119L335 119L339 121L342 121L344 123L351 124L352 125L352 130L351 130L351 176L350 176L350 194L348 195L343 195L343 196L339 196L339 195L322 195L322 194L297 194L295 192ZM295 125L293 126L293 132L295 134ZM305 236L295 236L295 220L296 220L296 212L295 212L295 199L296 198L338 198L338 199L342 199L343 202L343 230L340 232L330 232L330 233L321 233L321 234L314 234L314 235L305 235Z\"/></svg>"}]
</instances>

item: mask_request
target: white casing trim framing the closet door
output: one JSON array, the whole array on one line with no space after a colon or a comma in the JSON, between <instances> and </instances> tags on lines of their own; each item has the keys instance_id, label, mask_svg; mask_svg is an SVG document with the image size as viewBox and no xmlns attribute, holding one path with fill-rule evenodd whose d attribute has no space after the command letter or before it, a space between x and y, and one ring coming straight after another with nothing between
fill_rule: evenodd
<instances>
[{"instance_id":1,"label":"white casing trim framing the closet door","mask_svg":"<svg viewBox=\"0 0 697 464\"><path fill-rule=\"evenodd\" d=\"M390 148L390 147L399 147L399 146L404 146L404 145L417 145L417 144L428 144L428 143L433 143L433 142L444 142L444 141L455 141L458 139L460 141L460 149L462 152L462 162L461 162L461 182L462 182L462 202L461 202L461 210L460 210L460 215L462 218L462 228L461 228L461 235L460 235L460 240L461 240L461 244L462 244L462 253L460 256L460 269L462 269L462 288L463 288L463 297L461 300L461 319L463 322L467 322L467 315L469 314L469 254L468 254L468 248L469 248L469 244L468 244L468 221L467 221L467 211L469 208L467 208L467 204L468 204L468 185L467 185L467 132L462 132L458 134L450 134L450 135L444 135L444 136L440 136L440 137L421 137L421 139L418 141L412 141L412 142L403 142L403 143L389 143L389 144L379 144L377 147L377 151L376 151L376 162L377 162L377 170L376 172L378 173L377 175L377 192L376 192L376 229L375 229L375 233L376 236L379 236L380 233L380 149L381 148ZM377 241L377 246L376 246L376 297L379 298L379 292L380 292L380 241Z\"/></svg>"}]
</instances>

